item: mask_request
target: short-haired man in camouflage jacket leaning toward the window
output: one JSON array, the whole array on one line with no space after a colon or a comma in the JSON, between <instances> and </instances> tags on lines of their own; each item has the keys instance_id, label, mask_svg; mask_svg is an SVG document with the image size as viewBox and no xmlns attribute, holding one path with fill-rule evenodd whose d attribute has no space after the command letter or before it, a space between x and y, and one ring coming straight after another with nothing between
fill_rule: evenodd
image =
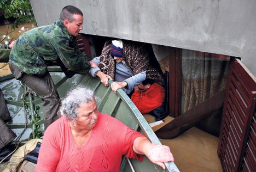
<instances>
[{"instance_id":1,"label":"short-haired man in camouflage jacket leaning toward the window","mask_svg":"<svg viewBox=\"0 0 256 172\"><path fill-rule=\"evenodd\" d=\"M44 127L57 119L59 94L47 69L47 62L61 61L72 71L85 71L94 63L78 48L75 36L83 29L83 13L68 5L60 19L49 26L28 30L11 49L9 66L16 79L43 100Z\"/></svg>"}]
</instances>

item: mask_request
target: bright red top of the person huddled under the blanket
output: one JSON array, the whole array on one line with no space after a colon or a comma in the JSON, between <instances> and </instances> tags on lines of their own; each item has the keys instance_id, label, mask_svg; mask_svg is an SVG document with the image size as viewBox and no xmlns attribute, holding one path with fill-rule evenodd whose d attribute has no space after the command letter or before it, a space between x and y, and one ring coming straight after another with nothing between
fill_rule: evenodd
<instances>
[{"instance_id":1,"label":"bright red top of the person huddled under the blanket","mask_svg":"<svg viewBox=\"0 0 256 172\"><path fill-rule=\"evenodd\" d=\"M142 114L149 113L162 105L165 100L165 89L160 84L154 83L146 91L135 91L131 100Z\"/></svg>"}]
</instances>

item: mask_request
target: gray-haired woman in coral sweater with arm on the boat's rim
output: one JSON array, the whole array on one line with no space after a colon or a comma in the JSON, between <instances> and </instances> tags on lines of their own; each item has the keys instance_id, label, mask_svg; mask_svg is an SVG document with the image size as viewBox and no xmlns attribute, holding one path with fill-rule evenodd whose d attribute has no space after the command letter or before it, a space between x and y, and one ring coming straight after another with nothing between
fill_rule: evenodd
<instances>
[{"instance_id":1,"label":"gray-haired woman in coral sweater with arm on the boat's rim","mask_svg":"<svg viewBox=\"0 0 256 172\"><path fill-rule=\"evenodd\" d=\"M165 169L174 161L168 146L98 111L94 91L72 90L62 102L61 118L44 133L36 171L120 171L123 155L150 161Z\"/></svg>"}]
</instances>

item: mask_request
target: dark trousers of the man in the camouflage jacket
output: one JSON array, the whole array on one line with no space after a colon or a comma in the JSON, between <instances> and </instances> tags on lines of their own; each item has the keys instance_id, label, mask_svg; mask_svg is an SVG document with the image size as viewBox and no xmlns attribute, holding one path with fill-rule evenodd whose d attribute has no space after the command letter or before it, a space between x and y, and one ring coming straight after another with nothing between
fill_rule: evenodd
<instances>
[{"instance_id":1,"label":"dark trousers of the man in the camouflage jacket","mask_svg":"<svg viewBox=\"0 0 256 172\"><path fill-rule=\"evenodd\" d=\"M26 84L36 92L43 101L44 109L44 128L58 119L57 111L61 106L60 96L55 88L50 73L44 76L28 75L22 72L17 66L9 61L9 67L14 77Z\"/></svg>"}]
</instances>

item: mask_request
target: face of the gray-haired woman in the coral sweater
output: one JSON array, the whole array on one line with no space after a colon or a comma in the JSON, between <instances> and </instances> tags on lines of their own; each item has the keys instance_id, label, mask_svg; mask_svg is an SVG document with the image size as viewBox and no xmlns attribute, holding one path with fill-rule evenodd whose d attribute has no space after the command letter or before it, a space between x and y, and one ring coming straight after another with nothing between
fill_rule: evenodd
<instances>
[{"instance_id":1,"label":"face of the gray-haired woman in the coral sweater","mask_svg":"<svg viewBox=\"0 0 256 172\"><path fill-rule=\"evenodd\" d=\"M94 98L89 103L81 103L77 108L78 129L91 130L96 125L97 119L98 108Z\"/></svg>"}]
</instances>

